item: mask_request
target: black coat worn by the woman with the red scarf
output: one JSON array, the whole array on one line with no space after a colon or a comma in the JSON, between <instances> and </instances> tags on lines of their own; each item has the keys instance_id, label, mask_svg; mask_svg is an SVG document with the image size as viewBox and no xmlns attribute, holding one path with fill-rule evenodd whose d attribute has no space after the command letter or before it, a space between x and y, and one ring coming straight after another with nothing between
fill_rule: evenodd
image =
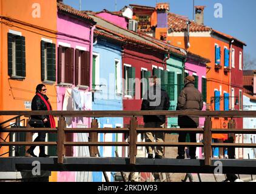
<instances>
[{"instance_id":1,"label":"black coat worn by the woman with the red scarf","mask_svg":"<svg viewBox=\"0 0 256 194\"><path fill-rule=\"evenodd\" d=\"M44 97L46 101L49 99L46 95L42 95L42 97ZM31 110L47 110L47 106L45 105L44 101L42 101L40 96L35 95L34 98L32 99ZM49 115L35 115L35 116L31 116L31 118L40 119L40 120L44 120L45 118L47 118L48 121L50 120Z\"/></svg>"}]
</instances>

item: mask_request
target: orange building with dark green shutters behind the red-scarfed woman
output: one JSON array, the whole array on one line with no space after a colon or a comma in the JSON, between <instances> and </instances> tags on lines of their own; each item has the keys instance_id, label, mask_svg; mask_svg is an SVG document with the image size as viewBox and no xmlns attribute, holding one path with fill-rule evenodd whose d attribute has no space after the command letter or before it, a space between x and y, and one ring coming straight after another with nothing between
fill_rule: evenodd
<instances>
[{"instance_id":1,"label":"orange building with dark green shutters behind the red-scarfed woman","mask_svg":"<svg viewBox=\"0 0 256 194\"><path fill-rule=\"evenodd\" d=\"M46 85L56 110L56 1L0 0L0 5L0 110L31 110L39 83ZM12 117L0 116L0 122ZM12 138L8 133L0 136L6 141ZM0 155L6 152L8 147L1 147Z\"/></svg>"}]
</instances>

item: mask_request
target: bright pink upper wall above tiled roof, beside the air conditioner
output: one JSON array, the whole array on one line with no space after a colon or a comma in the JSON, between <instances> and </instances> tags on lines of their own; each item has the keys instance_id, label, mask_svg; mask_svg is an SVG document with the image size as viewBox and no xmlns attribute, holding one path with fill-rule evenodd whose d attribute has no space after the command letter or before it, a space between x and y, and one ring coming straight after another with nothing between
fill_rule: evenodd
<instances>
[{"instance_id":1,"label":"bright pink upper wall above tiled roof, beside the air conditioner","mask_svg":"<svg viewBox=\"0 0 256 194\"><path fill-rule=\"evenodd\" d=\"M97 16L106 19L107 21L111 22L112 24L116 24L122 28L126 28L128 26L128 21L123 16L113 15L107 12L98 13Z\"/></svg>"}]
</instances>

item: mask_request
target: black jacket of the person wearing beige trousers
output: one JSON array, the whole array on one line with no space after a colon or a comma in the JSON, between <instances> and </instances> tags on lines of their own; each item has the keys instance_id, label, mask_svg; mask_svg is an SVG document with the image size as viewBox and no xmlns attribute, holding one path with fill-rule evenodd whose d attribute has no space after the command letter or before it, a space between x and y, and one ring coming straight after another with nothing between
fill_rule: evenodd
<instances>
[{"instance_id":1,"label":"black jacket of the person wearing beige trousers","mask_svg":"<svg viewBox=\"0 0 256 194\"><path fill-rule=\"evenodd\" d=\"M158 98L158 95L160 95ZM157 98L156 98L157 97ZM141 110L169 110L170 98L167 92L160 87L153 87L147 90L143 96ZM166 122L165 115L143 116L144 122Z\"/></svg>"}]
</instances>

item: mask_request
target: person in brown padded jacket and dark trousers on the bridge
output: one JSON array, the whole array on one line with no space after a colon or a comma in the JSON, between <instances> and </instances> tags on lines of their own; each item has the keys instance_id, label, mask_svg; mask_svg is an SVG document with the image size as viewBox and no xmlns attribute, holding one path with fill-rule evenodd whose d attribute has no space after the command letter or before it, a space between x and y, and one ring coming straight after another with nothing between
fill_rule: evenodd
<instances>
[{"instance_id":1,"label":"person in brown padded jacket and dark trousers on the bridge","mask_svg":"<svg viewBox=\"0 0 256 194\"><path fill-rule=\"evenodd\" d=\"M184 80L184 88L181 90L178 97L178 104L176 110L202 110L203 98L198 89L195 88L194 76L187 76ZM197 128L199 125L198 116L178 116L178 125L180 128ZM186 141L187 133L180 133L178 142ZM197 142L196 133L189 133L190 142ZM196 159L196 147L189 147L190 159ZM184 146L178 147L177 159L184 159Z\"/></svg>"}]
</instances>

